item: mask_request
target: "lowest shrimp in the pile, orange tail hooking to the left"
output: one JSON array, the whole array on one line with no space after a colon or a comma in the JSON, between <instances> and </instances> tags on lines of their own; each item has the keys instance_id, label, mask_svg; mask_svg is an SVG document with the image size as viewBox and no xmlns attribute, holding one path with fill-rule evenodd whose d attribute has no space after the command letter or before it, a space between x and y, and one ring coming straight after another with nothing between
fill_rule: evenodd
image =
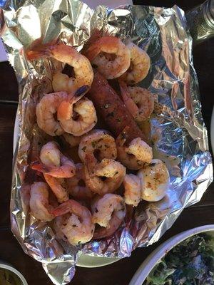
<instances>
[{"instance_id":1,"label":"lowest shrimp in the pile, orange tail hooking to the left","mask_svg":"<svg viewBox=\"0 0 214 285\"><path fill-rule=\"evenodd\" d=\"M61 232L66 236L70 244L84 244L93 237L94 224L92 222L91 212L78 202L69 199L54 209L55 217L64 214L65 216L61 226Z\"/></svg>"}]
</instances>

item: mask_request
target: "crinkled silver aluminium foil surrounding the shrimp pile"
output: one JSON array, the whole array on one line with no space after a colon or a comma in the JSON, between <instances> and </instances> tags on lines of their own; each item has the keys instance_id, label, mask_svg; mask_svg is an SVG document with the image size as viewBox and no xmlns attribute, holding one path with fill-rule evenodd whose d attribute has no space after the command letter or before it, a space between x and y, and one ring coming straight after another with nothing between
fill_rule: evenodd
<instances>
[{"instance_id":1,"label":"crinkled silver aluminium foil surrounding the shrimp pile","mask_svg":"<svg viewBox=\"0 0 214 285\"><path fill-rule=\"evenodd\" d=\"M93 256L129 257L164 234L185 207L200 200L213 180L208 137L193 68L192 39L177 6L120 6L95 11L78 0L0 1L1 38L19 82L19 132L14 155L11 229L24 252L41 261L54 284L67 284L82 252ZM56 240L50 224L29 213L24 181L34 182L28 157L40 138L35 106L51 92L51 78L63 65L51 58L27 61L25 49L35 43L63 41L81 51L94 31L131 39L148 52L151 68L141 86L158 95L161 113L151 118L154 157L170 171L170 190L161 202L141 202L133 219L111 239L71 247ZM41 139L41 140L40 140Z\"/></svg>"}]
</instances>

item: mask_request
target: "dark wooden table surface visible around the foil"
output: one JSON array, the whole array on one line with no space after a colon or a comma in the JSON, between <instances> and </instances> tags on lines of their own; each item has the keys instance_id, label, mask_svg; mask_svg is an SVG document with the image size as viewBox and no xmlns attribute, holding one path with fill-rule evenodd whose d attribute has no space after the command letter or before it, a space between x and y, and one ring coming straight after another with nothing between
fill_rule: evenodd
<instances>
[{"instance_id":1,"label":"dark wooden table surface visible around the foil","mask_svg":"<svg viewBox=\"0 0 214 285\"><path fill-rule=\"evenodd\" d=\"M185 11L200 0L192 1L136 1L154 6L172 6L177 4ZM210 117L214 102L214 38L194 48L193 57L200 85L203 118L210 134ZM24 254L10 230L9 202L11 195L11 171L13 158L14 120L18 101L18 86L14 71L9 63L0 63L0 259L3 259L21 271L29 285L52 284L41 264ZM185 209L173 227L164 234L159 242L146 249L136 249L130 258L98 269L76 268L73 285L126 285L148 254L165 239L185 229L203 224L214 224L214 184L210 185L203 199Z\"/></svg>"}]
</instances>

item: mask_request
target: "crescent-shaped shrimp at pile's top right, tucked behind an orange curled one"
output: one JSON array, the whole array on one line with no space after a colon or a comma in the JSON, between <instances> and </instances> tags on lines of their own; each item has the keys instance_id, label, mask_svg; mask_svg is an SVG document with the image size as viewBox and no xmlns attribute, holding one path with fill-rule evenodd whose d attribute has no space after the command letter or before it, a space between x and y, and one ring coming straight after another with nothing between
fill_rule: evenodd
<instances>
[{"instance_id":1,"label":"crescent-shaped shrimp at pile's top right, tucked behind an orange curled one","mask_svg":"<svg viewBox=\"0 0 214 285\"><path fill-rule=\"evenodd\" d=\"M143 51L134 43L129 43L127 48L131 53L131 65L128 71L121 76L121 79L128 84L138 83L146 78L151 66L151 60L146 51Z\"/></svg>"}]
</instances>

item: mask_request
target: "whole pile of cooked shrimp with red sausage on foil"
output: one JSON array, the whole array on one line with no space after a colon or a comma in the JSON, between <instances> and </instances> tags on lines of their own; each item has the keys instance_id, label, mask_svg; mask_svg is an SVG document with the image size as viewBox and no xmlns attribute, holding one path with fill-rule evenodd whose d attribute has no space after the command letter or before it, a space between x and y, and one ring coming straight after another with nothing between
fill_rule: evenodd
<instances>
[{"instance_id":1,"label":"whole pile of cooked shrimp with red sausage on foil","mask_svg":"<svg viewBox=\"0 0 214 285\"><path fill-rule=\"evenodd\" d=\"M155 99L137 83L146 78L150 58L112 36L98 38L84 55L63 43L26 54L73 68L72 76L54 74L53 93L36 105L37 124L50 139L31 160L39 177L28 187L31 214L51 222L56 237L72 245L110 237L126 207L159 201L169 187L167 167L153 157L142 127Z\"/></svg>"}]
</instances>

